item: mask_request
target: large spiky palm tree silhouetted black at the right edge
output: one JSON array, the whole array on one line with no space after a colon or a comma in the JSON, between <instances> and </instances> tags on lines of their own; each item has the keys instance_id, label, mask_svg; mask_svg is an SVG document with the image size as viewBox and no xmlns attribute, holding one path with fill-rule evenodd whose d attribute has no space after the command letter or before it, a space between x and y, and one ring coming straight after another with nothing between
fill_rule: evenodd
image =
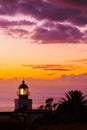
<instances>
[{"instance_id":1,"label":"large spiky palm tree silhouetted black at the right edge","mask_svg":"<svg viewBox=\"0 0 87 130\"><path fill-rule=\"evenodd\" d=\"M75 118L80 118L87 109L86 96L79 90L71 90L65 93L66 98L61 98L58 111Z\"/></svg>"}]
</instances>

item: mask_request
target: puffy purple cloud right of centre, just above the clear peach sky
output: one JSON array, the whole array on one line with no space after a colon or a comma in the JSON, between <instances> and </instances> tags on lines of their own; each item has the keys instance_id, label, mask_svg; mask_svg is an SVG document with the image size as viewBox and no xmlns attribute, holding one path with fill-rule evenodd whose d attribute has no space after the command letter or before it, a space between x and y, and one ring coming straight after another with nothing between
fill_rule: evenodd
<instances>
[{"instance_id":1,"label":"puffy purple cloud right of centre, just above the clear peach sky","mask_svg":"<svg viewBox=\"0 0 87 130\"><path fill-rule=\"evenodd\" d=\"M35 29L32 38L42 43L76 43L85 41L85 34L70 25L56 24L52 27L45 25Z\"/></svg>"}]
</instances>

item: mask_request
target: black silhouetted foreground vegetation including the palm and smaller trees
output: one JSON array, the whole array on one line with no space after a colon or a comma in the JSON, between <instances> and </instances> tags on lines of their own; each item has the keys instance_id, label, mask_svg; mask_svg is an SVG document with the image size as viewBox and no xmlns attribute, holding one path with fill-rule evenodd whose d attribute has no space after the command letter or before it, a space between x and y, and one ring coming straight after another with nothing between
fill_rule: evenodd
<instances>
[{"instance_id":1,"label":"black silhouetted foreground vegetation including the palm and smaller trees","mask_svg":"<svg viewBox=\"0 0 87 130\"><path fill-rule=\"evenodd\" d=\"M65 93L59 103L53 103L53 98L47 99L39 111L43 114L34 121L25 110L14 112L7 122L0 122L0 129L87 130L87 99L79 90Z\"/></svg>"}]
</instances>

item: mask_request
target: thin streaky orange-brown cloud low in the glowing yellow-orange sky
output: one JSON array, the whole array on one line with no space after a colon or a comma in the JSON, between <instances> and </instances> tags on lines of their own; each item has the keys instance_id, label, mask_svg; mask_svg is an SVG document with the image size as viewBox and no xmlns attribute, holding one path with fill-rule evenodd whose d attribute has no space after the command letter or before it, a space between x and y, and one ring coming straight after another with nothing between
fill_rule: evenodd
<instances>
[{"instance_id":1,"label":"thin streaky orange-brown cloud low in the glowing yellow-orange sky","mask_svg":"<svg viewBox=\"0 0 87 130\"><path fill-rule=\"evenodd\" d=\"M30 67L32 69L41 69L46 71L72 71L76 69L76 66L73 65L25 65L23 64L22 67Z\"/></svg>"}]
</instances>

